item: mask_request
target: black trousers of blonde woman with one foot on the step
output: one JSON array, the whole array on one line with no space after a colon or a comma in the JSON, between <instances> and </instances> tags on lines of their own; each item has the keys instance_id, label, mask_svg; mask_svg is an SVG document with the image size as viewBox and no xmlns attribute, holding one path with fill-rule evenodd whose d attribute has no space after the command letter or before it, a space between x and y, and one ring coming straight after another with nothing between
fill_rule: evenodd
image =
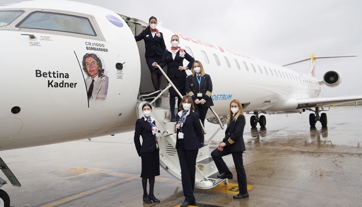
<instances>
[{"instance_id":1,"label":"black trousers of blonde woman with one foot on the step","mask_svg":"<svg viewBox=\"0 0 362 207\"><path fill-rule=\"evenodd\" d=\"M211 156L216 164L216 167L219 170L219 173L224 173L230 171L228 166L226 166L224 159L222 158L225 155L232 155L235 169L238 175L238 185L239 185L239 193L245 194L247 193L247 186L246 186L246 173L244 169L244 165L242 163L242 152L230 152L229 147L224 147L224 151L220 152L217 148L212 151Z\"/></svg>"}]
</instances>

